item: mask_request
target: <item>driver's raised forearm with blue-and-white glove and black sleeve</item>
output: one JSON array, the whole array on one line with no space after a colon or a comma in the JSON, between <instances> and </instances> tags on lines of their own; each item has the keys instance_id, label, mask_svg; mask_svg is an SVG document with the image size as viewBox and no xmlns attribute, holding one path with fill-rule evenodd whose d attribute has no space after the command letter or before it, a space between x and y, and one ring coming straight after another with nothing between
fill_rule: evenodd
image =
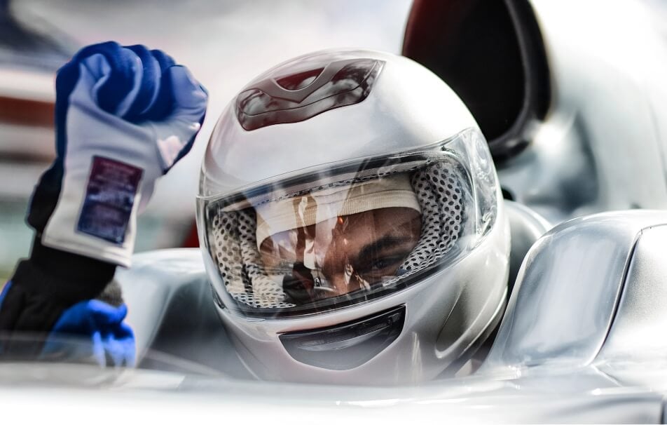
<instances>
[{"instance_id":1,"label":"driver's raised forearm with blue-and-white glove and black sleeve","mask_svg":"<svg viewBox=\"0 0 667 425\"><path fill-rule=\"evenodd\" d=\"M32 196L36 236L4 293L0 330L49 332L130 265L137 212L191 149L206 102L185 67L144 46L88 46L59 70L57 156Z\"/></svg>"}]
</instances>

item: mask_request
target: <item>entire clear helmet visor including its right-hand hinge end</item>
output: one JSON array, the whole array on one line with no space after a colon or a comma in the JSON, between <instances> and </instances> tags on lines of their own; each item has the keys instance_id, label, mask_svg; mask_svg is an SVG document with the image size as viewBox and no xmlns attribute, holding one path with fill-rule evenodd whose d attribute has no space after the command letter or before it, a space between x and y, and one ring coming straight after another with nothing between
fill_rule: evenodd
<instances>
[{"instance_id":1,"label":"entire clear helmet visor including its right-hand hinge end","mask_svg":"<svg viewBox=\"0 0 667 425\"><path fill-rule=\"evenodd\" d=\"M200 198L221 303L249 316L291 316L417 283L474 248L493 224L488 161L486 142L469 130L422 151Z\"/></svg>"}]
</instances>

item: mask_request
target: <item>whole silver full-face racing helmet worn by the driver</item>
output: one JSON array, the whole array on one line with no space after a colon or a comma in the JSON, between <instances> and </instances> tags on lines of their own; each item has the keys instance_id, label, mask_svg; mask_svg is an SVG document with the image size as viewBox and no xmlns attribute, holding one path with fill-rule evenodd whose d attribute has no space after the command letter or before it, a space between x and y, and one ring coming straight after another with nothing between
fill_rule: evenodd
<instances>
[{"instance_id":1,"label":"whole silver full-face racing helmet worn by the driver","mask_svg":"<svg viewBox=\"0 0 667 425\"><path fill-rule=\"evenodd\" d=\"M198 232L259 379L453 374L504 309L509 229L486 141L401 56L324 50L245 86L207 145Z\"/></svg>"}]
</instances>

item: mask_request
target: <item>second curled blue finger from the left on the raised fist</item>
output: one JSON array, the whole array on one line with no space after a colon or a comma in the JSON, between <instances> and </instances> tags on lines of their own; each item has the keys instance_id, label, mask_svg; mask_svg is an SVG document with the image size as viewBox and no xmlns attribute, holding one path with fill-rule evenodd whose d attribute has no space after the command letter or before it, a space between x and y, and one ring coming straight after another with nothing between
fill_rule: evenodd
<instances>
[{"instance_id":1,"label":"second curled blue finger from the left on the raised fist","mask_svg":"<svg viewBox=\"0 0 667 425\"><path fill-rule=\"evenodd\" d=\"M126 97L119 108L118 114L129 121L136 122L141 119L141 115L151 107L158 97L162 68L160 67L160 61L146 46L136 45L126 48L132 50L139 57L143 70L137 95L132 98L130 96ZM128 103L126 106L127 112L122 113L121 109L123 109L125 103Z\"/></svg>"}]
</instances>

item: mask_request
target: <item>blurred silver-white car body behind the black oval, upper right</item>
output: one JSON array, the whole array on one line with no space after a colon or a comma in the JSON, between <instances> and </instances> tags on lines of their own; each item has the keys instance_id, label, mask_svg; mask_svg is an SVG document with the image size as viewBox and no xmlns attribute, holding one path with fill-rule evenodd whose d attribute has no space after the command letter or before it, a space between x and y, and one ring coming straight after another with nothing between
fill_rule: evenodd
<instances>
[{"instance_id":1,"label":"blurred silver-white car body behind the black oval, upper right","mask_svg":"<svg viewBox=\"0 0 667 425\"><path fill-rule=\"evenodd\" d=\"M514 199L558 222L667 207L667 48L640 1L531 1L552 100L530 147L499 167ZM623 22L619 30L619 22Z\"/></svg>"}]
</instances>

